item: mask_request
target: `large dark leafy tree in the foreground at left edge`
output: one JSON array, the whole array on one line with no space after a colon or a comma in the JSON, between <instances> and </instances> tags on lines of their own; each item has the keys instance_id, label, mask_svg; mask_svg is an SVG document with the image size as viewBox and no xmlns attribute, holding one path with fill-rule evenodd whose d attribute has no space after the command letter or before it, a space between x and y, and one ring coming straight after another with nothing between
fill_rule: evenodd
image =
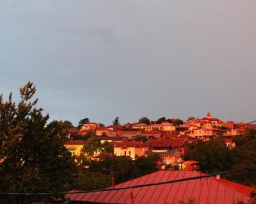
<instances>
[{"instance_id":1,"label":"large dark leafy tree in the foreground at left edge","mask_svg":"<svg viewBox=\"0 0 256 204\"><path fill-rule=\"evenodd\" d=\"M76 167L63 146L66 140L63 126L57 121L47 124L49 115L43 116L42 109L35 107L38 99L31 101L36 92L32 82L19 92L21 99L17 105L12 101L12 93L6 102L0 96L0 191L70 190ZM8 203L25 202L22 197L7 199Z\"/></svg>"}]
</instances>

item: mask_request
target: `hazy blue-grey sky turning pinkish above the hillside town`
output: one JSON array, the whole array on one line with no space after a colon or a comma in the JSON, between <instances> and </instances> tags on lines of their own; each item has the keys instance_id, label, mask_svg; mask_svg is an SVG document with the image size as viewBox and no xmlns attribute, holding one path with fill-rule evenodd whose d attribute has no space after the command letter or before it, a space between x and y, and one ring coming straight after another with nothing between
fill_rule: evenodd
<instances>
[{"instance_id":1,"label":"hazy blue-grey sky turning pinkish above the hillside town","mask_svg":"<svg viewBox=\"0 0 256 204\"><path fill-rule=\"evenodd\" d=\"M0 93L50 120L256 119L256 1L2 0Z\"/></svg>"}]
</instances>

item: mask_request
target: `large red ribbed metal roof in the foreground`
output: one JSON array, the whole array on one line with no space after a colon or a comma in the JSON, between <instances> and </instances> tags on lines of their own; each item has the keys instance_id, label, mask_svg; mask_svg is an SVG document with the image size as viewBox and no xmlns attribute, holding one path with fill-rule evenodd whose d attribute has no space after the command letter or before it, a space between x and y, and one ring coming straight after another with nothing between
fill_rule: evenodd
<instances>
[{"instance_id":1,"label":"large red ribbed metal roof in the foreground","mask_svg":"<svg viewBox=\"0 0 256 204\"><path fill-rule=\"evenodd\" d=\"M166 182L187 177L200 176L197 171L157 171L137 179L118 184L115 188L135 185ZM81 203L178 203L194 198L196 203L225 203L236 201L248 202L248 196L253 188L229 182L224 179L218 181L215 177L177 182L158 186L141 187L127 190L114 190L95 193L70 194L71 201ZM131 196L132 195L132 196ZM132 198L133 197L133 198Z\"/></svg>"}]
</instances>

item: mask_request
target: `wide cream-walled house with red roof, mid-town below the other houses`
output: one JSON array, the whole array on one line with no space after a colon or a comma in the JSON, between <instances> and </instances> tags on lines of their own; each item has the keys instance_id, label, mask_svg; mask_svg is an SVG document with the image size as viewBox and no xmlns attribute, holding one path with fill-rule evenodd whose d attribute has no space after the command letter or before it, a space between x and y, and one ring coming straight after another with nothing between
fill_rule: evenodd
<instances>
[{"instance_id":1,"label":"wide cream-walled house with red roof, mid-town below the other houses","mask_svg":"<svg viewBox=\"0 0 256 204\"><path fill-rule=\"evenodd\" d=\"M148 147L143 142L113 142L114 155L129 156L131 158L140 157L146 154Z\"/></svg>"}]
</instances>

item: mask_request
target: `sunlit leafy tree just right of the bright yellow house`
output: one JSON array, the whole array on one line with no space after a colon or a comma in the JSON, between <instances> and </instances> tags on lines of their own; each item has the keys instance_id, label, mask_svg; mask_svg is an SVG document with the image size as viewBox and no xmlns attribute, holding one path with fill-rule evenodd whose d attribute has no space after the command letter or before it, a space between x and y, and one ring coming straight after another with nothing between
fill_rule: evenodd
<instances>
[{"instance_id":1,"label":"sunlit leafy tree just right of the bright yellow house","mask_svg":"<svg viewBox=\"0 0 256 204\"><path fill-rule=\"evenodd\" d=\"M94 154L100 148L100 138L91 137L86 141L86 144L83 145L82 152L88 156L88 159L91 160Z\"/></svg>"}]
</instances>

